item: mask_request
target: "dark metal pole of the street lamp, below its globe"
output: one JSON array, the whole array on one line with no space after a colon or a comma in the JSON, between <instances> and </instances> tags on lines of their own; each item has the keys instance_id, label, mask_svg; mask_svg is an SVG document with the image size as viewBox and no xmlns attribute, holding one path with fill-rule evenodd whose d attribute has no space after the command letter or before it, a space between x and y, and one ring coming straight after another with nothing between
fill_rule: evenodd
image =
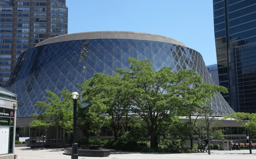
<instances>
[{"instance_id":1,"label":"dark metal pole of the street lamp, below its globe","mask_svg":"<svg viewBox=\"0 0 256 159\"><path fill-rule=\"evenodd\" d=\"M78 159L78 152L77 152L77 143L76 143L76 100L73 100L74 102L74 127L73 127L73 143L72 143L72 155L71 159Z\"/></svg>"}]
</instances>

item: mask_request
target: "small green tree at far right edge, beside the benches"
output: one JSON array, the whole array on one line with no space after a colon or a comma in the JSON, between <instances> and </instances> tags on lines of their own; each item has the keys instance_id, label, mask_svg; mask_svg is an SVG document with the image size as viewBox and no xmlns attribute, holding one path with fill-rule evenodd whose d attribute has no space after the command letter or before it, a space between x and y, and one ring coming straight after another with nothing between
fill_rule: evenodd
<instances>
[{"instance_id":1,"label":"small green tree at far right edge, beside the benches","mask_svg":"<svg viewBox=\"0 0 256 159\"><path fill-rule=\"evenodd\" d=\"M249 151L252 154L252 147L251 147L251 133L255 130L256 127L256 114L255 113L231 113L230 115L224 116L223 119L233 119L236 122L241 122L241 127L245 127L248 131L249 136Z\"/></svg>"}]
</instances>

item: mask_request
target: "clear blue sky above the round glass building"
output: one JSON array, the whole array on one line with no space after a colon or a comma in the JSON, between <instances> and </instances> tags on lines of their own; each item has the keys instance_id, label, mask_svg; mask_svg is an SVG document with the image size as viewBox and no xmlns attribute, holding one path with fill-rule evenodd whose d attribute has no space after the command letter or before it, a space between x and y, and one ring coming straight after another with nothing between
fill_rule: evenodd
<instances>
[{"instance_id":1,"label":"clear blue sky above the round glass building","mask_svg":"<svg viewBox=\"0 0 256 159\"><path fill-rule=\"evenodd\" d=\"M68 33L134 31L177 39L216 63L212 0L66 0Z\"/></svg>"}]
</instances>

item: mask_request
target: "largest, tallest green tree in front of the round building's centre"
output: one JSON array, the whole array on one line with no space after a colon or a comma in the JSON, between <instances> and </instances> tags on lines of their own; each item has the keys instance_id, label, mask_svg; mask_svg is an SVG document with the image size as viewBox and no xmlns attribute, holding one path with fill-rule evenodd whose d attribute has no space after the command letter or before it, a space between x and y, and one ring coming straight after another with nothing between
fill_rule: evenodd
<instances>
[{"instance_id":1,"label":"largest, tallest green tree in front of the round building's centre","mask_svg":"<svg viewBox=\"0 0 256 159\"><path fill-rule=\"evenodd\" d=\"M129 97L131 112L140 115L146 122L150 135L150 147L158 146L157 130L167 115L177 115L182 107L181 95L201 78L194 70L181 70L177 74L172 68L152 69L150 59L138 61L128 58L131 72L118 68L117 72L132 86Z\"/></svg>"}]
</instances>

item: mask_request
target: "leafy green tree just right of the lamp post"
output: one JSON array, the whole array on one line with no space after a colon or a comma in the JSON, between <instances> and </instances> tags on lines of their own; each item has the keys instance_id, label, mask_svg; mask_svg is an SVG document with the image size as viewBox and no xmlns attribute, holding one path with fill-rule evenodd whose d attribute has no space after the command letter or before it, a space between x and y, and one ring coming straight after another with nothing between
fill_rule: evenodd
<instances>
[{"instance_id":1,"label":"leafy green tree just right of the lamp post","mask_svg":"<svg viewBox=\"0 0 256 159\"><path fill-rule=\"evenodd\" d=\"M127 127L128 124L128 111L130 107L129 89L130 84L122 80L119 74L107 75L102 73L94 74L94 77L90 78L82 85L82 102L88 103L88 107L102 106L104 111L101 113L107 113L111 116L111 127L114 133L114 139L117 140L117 136L120 133L120 126L123 123ZM98 114L99 109L89 109ZM93 113L93 112L90 112ZM122 120L123 116L126 116Z\"/></svg>"}]
</instances>

